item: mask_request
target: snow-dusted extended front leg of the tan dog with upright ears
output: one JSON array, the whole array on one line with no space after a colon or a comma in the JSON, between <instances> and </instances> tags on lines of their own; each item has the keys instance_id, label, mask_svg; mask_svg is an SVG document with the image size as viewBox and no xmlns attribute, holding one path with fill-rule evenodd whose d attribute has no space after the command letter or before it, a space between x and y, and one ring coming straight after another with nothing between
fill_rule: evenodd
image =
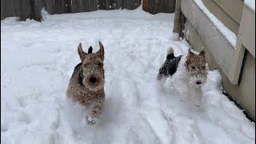
<instances>
[{"instance_id":1,"label":"snow-dusted extended front leg of the tan dog with upright ears","mask_svg":"<svg viewBox=\"0 0 256 144\"><path fill-rule=\"evenodd\" d=\"M90 104L90 109L86 114L86 122L89 125L94 125L97 119L102 115L102 110L104 108L105 101L104 99L94 100Z\"/></svg>"}]
</instances>

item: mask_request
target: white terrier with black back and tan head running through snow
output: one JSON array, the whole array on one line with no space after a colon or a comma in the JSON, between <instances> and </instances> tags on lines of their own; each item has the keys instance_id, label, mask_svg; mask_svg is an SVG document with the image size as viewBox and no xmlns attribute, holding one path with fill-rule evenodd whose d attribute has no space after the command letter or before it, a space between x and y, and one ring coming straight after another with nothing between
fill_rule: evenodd
<instances>
[{"instance_id":1,"label":"white terrier with black back and tan head running through snow","mask_svg":"<svg viewBox=\"0 0 256 144\"><path fill-rule=\"evenodd\" d=\"M178 91L180 99L186 101L188 97L193 98L196 106L201 105L202 85L207 80L206 56L202 50L199 54L194 54L189 48L187 55L174 56L174 49L167 51L166 62L164 62L158 72L158 80L165 81L172 76L174 90Z\"/></svg>"}]
</instances>

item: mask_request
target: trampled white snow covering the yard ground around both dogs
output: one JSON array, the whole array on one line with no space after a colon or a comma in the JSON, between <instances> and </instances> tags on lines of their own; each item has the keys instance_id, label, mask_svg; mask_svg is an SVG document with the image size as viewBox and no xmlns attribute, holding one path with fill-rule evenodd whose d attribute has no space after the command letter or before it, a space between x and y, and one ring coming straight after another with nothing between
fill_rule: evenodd
<instances>
[{"instance_id":1,"label":"trampled white snow covering the yard ground around both dogs","mask_svg":"<svg viewBox=\"0 0 256 144\"><path fill-rule=\"evenodd\" d=\"M253 143L255 125L221 91L218 70L203 87L203 105L180 102L156 81L166 48L186 54L173 34L174 14L98 10L44 14L43 22L1 21L1 142ZM66 88L83 49L105 46L106 109L95 126ZM171 81L171 79L168 79Z\"/></svg>"}]
</instances>

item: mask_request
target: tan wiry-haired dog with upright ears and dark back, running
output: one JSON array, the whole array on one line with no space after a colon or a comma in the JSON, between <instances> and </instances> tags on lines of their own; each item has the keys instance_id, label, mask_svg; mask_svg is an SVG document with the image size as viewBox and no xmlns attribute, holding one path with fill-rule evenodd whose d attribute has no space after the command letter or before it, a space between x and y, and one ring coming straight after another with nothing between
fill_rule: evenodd
<instances>
[{"instance_id":1,"label":"tan wiry-haired dog with upright ears and dark back, running","mask_svg":"<svg viewBox=\"0 0 256 144\"><path fill-rule=\"evenodd\" d=\"M82 50L81 43L78 45L78 54L82 62L75 66L66 90L68 98L90 107L86 114L88 124L95 124L97 118L102 115L105 106L104 48L101 42L99 45L100 50L98 52L92 53L90 47L88 54Z\"/></svg>"}]
</instances>

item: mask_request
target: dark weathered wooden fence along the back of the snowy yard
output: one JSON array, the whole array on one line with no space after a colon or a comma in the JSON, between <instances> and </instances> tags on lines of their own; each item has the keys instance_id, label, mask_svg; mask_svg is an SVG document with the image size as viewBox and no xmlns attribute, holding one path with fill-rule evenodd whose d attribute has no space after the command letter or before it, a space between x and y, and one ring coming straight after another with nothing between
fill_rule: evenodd
<instances>
[{"instance_id":1,"label":"dark weathered wooden fence along the back of the snowy yard","mask_svg":"<svg viewBox=\"0 0 256 144\"><path fill-rule=\"evenodd\" d=\"M42 7L49 14L88 12L94 10L134 10L143 3L143 10L156 14L174 13L176 0L1 0L1 19L19 17L41 21Z\"/></svg>"}]
</instances>

